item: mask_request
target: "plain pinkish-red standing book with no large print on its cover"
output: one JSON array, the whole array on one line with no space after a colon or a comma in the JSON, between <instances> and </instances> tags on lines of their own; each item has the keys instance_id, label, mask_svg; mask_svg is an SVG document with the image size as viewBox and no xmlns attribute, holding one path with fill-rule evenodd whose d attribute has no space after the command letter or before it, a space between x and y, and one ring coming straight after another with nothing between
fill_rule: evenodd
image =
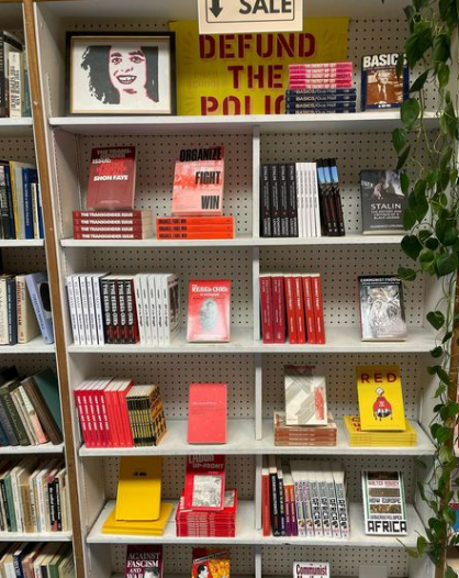
<instances>
[{"instance_id":1,"label":"plain pinkish-red standing book with no large print on its cover","mask_svg":"<svg viewBox=\"0 0 459 578\"><path fill-rule=\"evenodd\" d=\"M226 444L227 385L190 384L188 443Z\"/></svg>"}]
</instances>

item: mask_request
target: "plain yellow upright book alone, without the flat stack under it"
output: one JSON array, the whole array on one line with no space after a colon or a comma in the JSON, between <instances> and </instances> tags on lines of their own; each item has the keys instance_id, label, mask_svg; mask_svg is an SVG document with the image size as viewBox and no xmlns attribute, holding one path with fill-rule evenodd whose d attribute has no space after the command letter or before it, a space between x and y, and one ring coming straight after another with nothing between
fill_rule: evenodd
<instances>
[{"instance_id":1,"label":"plain yellow upright book alone, without the flat stack under it","mask_svg":"<svg viewBox=\"0 0 459 578\"><path fill-rule=\"evenodd\" d=\"M161 508L160 457L122 457L116 493L117 521L158 520Z\"/></svg>"}]
</instances>

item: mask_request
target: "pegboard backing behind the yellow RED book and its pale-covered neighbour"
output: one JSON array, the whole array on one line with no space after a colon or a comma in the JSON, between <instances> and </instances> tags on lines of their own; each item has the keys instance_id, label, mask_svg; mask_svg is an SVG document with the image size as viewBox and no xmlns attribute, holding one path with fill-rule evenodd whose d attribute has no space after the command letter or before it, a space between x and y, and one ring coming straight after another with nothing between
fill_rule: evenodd
<instances>
[{"instance_id":1,"label":"pegboard backing behind the yellow RED book and its pale-covered neighbour","mask_svg":"<svg viewBox=\"0 0 459 578\"><path fill-rule=\"evenodd\" d=\"M417 354L373 355L303 355L272 354L262 356L264 418L272 419L275 410L286 403L284 366L315 365L316 375L324 375L327 385L327 403L335 418L358 415L356 367L359 365L398 365L400 367L405 415L419 419L424 362Z\"/></svg>"}]
</instances>

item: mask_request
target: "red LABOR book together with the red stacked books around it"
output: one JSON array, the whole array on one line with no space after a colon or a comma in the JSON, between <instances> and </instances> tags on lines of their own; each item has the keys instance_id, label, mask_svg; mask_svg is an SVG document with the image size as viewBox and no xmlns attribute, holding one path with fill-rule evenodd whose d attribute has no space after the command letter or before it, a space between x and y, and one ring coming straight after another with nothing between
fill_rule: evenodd
<instances>
[{"instance_id":1,"label":"red LABOR book together with the red stacked books around it","mask_svg":"<svg viewBox=\"0 0 459 578\"><path fill-rule=\"evenodd\" d=\"M237 490L225 486L225 456L188 456L177 536L234 537L236 512Z\"/></svg>"}]
</instances>

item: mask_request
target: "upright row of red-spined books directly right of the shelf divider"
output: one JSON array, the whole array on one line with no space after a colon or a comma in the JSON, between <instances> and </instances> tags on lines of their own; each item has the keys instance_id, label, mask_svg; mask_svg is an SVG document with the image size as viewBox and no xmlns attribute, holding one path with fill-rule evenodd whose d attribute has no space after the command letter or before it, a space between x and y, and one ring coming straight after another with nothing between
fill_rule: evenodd
<instances>
[{"instance_id":1,"label":"upright row of red-spined books directly right of the shelf divider","mask_svg":"<svg viewBox=\"0 0 459 578\"><path fill-rule=\"evenodd\" d=\"M264 344L325 343L324 303L320 274L262 274L260 282Z\"/></svg>"}]
</instances>

